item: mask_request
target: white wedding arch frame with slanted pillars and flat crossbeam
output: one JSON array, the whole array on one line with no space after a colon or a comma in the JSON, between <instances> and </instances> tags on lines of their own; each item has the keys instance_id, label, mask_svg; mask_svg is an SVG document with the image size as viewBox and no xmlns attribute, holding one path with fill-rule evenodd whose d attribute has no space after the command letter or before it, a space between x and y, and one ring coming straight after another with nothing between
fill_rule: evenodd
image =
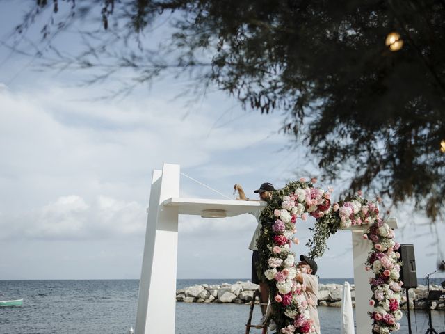
<instances>
[{"instance_id":1,"label":"white wedding arch frame with slanted pillars and flat crossbeam","mask_svg":"<svg viewBox=\"0 0 445 334\"><path fill-rule=\"evenodd\" d=\"M245 214L266 205L265 202L180 198L179 176L180 168L177 164L163 164L162 170L153 170L139 283L136 334L175 333L179 214L208 217L214 214L214 218L220 218ZM387 223L391 228L397 228L395 219ZM369 278L372 271L364 270L364 262L372 244L362 238L362 227L355 226L349 230L353 239L356 332L368 334L371 333L371 319L367 312L371 310Z\"/></svg>"}]
</instances>

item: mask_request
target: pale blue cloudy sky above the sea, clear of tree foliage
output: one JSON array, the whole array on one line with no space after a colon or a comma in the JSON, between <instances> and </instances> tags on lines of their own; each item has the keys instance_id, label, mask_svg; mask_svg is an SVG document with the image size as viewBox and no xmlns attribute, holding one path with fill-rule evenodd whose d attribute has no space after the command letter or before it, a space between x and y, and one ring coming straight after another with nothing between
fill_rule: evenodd
<instances>
[{"instance_id":1,"label":"pale blue cloudy sky above the sea, clear of tree foliage","mask_svg":"<svg viewBox=\"0 0 445 334\"><path fill-rule=\"evenodd\" d=\"M7 47L23 8L0 2L0 280L139 278L152 170L163 163L231 198L236 183L255 198L262 182L280 188L317 175L305 148L289 149L293 138L277 132L280 112L244 111L218 90L188 104L177 95L193 83L171 77L97 100L116 81L81 86L88 71L41 71ZM60 45L80 49L73 40ZM180 196L224 199L184 176ZM405 209L391 215L401 228L396 239L414 244L418 277L434 271L442 259L426 218ZM256 224L248 214L180 216L178 278L249 278ZM307 253L313 225L298 222L297 253ZM353 277L350 232L328 246L319 276Z\"/></svg>"}]
</instances>

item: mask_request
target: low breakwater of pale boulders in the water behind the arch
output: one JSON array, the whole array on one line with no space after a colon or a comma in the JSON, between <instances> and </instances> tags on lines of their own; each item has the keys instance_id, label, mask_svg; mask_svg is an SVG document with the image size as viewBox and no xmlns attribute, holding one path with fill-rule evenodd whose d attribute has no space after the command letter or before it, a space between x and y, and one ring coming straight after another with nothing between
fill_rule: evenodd
<instances>
[{"instance_id":1,"label":"low breakwater of pale boulders in the water behind the arch","mask_svg":"<svg viewBox=\"0 0 445 334\"><path fill-rule=\"evenodd\" d=\"M253 299L258 285L247 282L236 282L234 284L223 283L221 285L193 285L178 289L176 291L176 300L184 303L250 303ZM439 290L439 285L430 285L430 290ZM329 307L341 307L343 298L343 285L339 284L320 284L318 285L318 305ZM355 286L350 285L351 299L355 306ZM420 310L426 308L426 302L421 301L428 296L428 287L419 285L416 289L409 290L410 309ZM406 304L402 308L406 309ZM432 302L431 310L445 310L445 303Z\"/></svg>"}]
</instances>

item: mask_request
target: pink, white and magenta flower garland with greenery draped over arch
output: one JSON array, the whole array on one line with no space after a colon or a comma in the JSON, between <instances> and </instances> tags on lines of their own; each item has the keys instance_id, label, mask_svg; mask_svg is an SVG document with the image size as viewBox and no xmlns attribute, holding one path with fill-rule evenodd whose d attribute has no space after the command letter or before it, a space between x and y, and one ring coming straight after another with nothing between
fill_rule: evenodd
<instances>
[{"instance_id":1,"label":"pink, white and magenta flower garland with greenery draped over arch","mask_svg":"<svg viewBox=\"0 0 445 334\"><path fill-rule=\"evenodd\" d=\"M269 286L272 318L279 333L312 333L314 326L309 317L307 302L298 283L296 255L291 251L297 219L306 221L316 218L314 237L309 240L309 257L321 257L330 235L350 225L366 225L364 239L373 243L364 264L364 270L372 270L375 277L370 281L370 305L373 312L373 334L398 331L402 317L400 303L401 285L399 272L401 262L395 251L400 247L394 241L394 230L379 217L376 202L361 196L353 196L331 203L332 189L324 191L305 179L289 182L275 191L260 216L261 234L258 239L259 271Z\"/></svg>"}]
</instances>

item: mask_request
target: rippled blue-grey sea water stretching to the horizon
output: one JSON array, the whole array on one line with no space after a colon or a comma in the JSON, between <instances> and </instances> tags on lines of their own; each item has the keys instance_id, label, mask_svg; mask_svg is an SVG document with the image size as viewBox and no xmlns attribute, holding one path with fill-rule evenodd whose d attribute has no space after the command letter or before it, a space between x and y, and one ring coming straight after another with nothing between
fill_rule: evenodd
<instances>
[{"instance_id":1,"label":"rippled blue-grey sea water stretching to the horizon","mask_svg":"<svg viewBox=\"0 0 445 334\"><path fill-rule=\"evenodd\" d=\"M238 280L247 279L177 280L177 289ZM353 283L352 278L321 278L320 283L346 280ZM425 284L423 279L419 284ZM0 300L24 299L22 307L0 308L0 334L127 334L136 322L138 285L139 280L0 280ZM249 305L178 302L175 333L243 334L249 310ZM321 307L318 315L323 334L340 333L341 308ZM259 308L254 308L252 323L260 318ZM399 333L408 333L406 315L401 326ZM428 313L411 311L411 326L412 333L426 333ZM437 333L445 331L445 312L432 311L432 327Z\"/></svg>"}]
</instances>

